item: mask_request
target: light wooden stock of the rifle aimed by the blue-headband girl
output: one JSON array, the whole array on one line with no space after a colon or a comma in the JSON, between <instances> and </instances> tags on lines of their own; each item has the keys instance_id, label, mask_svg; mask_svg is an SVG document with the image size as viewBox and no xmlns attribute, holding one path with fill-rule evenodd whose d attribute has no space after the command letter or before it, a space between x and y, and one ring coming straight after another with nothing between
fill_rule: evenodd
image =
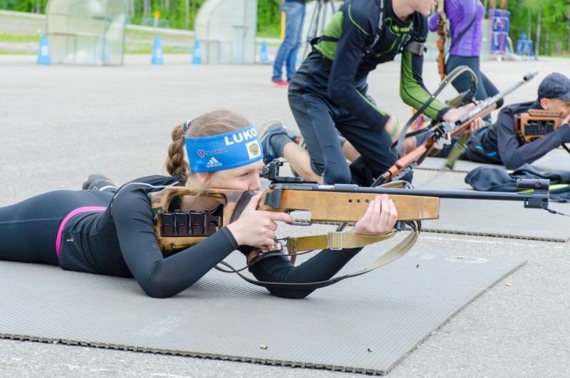
<instances>
[{"instance_id":1,"label":"light wooden stock of the rifle aimed by the blue-headband girl","mask_svg":"<svg viewBox=\"0 0 570 378\"><path fill-rule=\"evenodd\" d=\"M301 189L304 185L299 184ZM343 190L297 190L267 189L264 191L257 210L292 213L309 211L310 222L295 223L311 225L313 222L352 223L358 221L371 200L383 193L380 188L371 188L373 193ZM209 213L170 213L170 203L184 195L200 195L216 198L223 206L221 217ZM244 190L168 187L151 193L150 202L155 215L155 235L162 252L190 247L201 242L212 233L234 222L254 193ZM423 220L439 218L439 198L416 195L389 195L398 209L398 220ZM194 215L194 220L192 220Z\"/></svg>"}]
</instances>

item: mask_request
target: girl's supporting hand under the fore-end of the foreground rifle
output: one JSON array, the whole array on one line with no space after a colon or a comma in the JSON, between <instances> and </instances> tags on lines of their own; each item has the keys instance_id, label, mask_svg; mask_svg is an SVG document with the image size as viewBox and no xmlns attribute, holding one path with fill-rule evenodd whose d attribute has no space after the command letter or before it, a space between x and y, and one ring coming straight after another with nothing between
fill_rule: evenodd
<instances>
[{"instance_id":1,"label":"girl's supporting hand under the fore-end of the foreground rifle","mask_svg":"<svg viewBox=\"0 0 570 378\"><path fill-rule=\"evenodd\" d=\"M386 194L377 195L350 232L358 235L381 235L392 230L396 220L398 210L394 201L388 199Z\"/></svg>"}]
</instances>

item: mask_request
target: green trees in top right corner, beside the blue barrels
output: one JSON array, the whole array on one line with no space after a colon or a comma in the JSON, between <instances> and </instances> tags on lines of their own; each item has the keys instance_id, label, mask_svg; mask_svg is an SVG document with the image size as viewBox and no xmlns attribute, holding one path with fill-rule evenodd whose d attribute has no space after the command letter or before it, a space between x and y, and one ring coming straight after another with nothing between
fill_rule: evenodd
<instances>
[{"instance_id":1,"label":"green trees in top right corner, beside the blue barrels","mask_svg":"<svg viewBox=\"0 0 570 378\"><path fill-rule=\"evenodd\" d=\"M539 46L539 55L566 53L569 47L569 0L512 0L509 36L516 44L522 33ZM540 17L539 17L540 16ZM539 40L537 30L540 27Z\"/></svg>"}]
</instances>

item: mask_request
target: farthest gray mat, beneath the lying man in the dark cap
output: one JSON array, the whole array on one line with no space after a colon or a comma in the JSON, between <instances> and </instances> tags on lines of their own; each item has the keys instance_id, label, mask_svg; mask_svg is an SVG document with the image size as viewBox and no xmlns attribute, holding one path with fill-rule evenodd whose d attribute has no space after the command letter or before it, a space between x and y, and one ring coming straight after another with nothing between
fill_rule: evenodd
<instances>
[{"instance_id":1,"label":"farthest gray mat, beneath the lying man in the dark cap","mask_svg":"<svg viewBox=\"0 0 570 378\"><path fill-rule=\"evenodd\" d=\"M439 170L445 164L446 159L444 158L432 158L431 156L425 158L425 160L418 165L416 170ZM456 172L469 172L473 168L480 166L489 167L503 167L503 165L497 164L482 164L473 163L467 160L457 160L453 166L453 170ZM556 150L551 150L549 153L539 158L532 166L539 172L551 172L553 170L570 170L570 153L567 153L563 148L556 148Z\"/></svg>"}]
</instances>

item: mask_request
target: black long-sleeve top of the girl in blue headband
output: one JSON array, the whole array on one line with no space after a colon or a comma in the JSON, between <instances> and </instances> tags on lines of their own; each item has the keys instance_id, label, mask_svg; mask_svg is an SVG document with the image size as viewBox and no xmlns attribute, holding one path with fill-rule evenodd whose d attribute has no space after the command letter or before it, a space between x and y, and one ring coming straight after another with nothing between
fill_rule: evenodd
<instances>
[{"instance_id":1,"label":"black long-sleeve top of the girl in blue headband","mask_svg":"<svg viewBox=\"0 0 570 378\"><path fill-rule=\"evenodd\" d=\"M150 176L123 185L107 210L73 216L63 228L59 264L65 270L135 277L151 297L171 297L190 287L232 251L237 244L227 228L165 257L155 236L149 194L165 185L180 185L182 177ZM240 247L249 255L252 247ZM328 280L361 248L322 250L299 266L286 255L261 260L251 270L268 282L318 282ZM244 259L245 262L245 259ZM281 297L302 298L313 287L268 287Z\"/></svg>"}]
</instances>

